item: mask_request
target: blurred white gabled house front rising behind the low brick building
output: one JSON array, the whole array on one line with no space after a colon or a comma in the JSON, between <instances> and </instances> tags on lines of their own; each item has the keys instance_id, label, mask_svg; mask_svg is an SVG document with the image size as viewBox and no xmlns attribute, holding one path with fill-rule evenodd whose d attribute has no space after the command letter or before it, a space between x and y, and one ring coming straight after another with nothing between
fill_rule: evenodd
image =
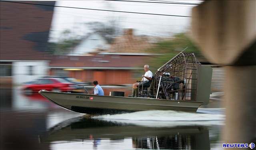
<instances>
[{"instance_id":1,"label":"blurred white gabled house front rising behind the low brick building","mask_svg":"<svg viewBox=\"0 0 256 150\"><path fill-rule=\"evenodd\" d=\"M98 49L108 49L110 45L100 34L97 32L91 33L84 38L79 45L77 45L68 55L80 56L90 52L94 52Z\"/></svg>"}]
</instances>

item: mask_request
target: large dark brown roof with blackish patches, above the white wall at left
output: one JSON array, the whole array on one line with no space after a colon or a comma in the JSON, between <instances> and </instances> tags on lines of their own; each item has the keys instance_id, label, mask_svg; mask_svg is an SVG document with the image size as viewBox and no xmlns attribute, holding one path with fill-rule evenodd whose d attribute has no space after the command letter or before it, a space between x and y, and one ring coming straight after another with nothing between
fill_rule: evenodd
<instances>
[{"instance_id":1,"label":"large dark brown roof with blackish patches, above the white wall at left","mask_svg":"<svg viewBox=\"0 0 256 150\"><path fill-rule=\"evenodd\" d=\"M0 60L48 60L45 51L54 7L1 1L0 8Z\"/></svg>"}]
</instances>

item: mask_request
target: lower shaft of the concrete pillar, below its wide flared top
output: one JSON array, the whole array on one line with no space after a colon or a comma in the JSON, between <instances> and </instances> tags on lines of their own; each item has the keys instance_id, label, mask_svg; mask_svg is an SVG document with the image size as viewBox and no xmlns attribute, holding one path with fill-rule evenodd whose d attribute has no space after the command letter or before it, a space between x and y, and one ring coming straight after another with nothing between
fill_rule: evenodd
<instances>
[{"instance_id":1,"label":"lower shaft of the concrete pillar, below its wide flared top","mask_svg":"<svg viewBox=\"0 0 256 150\"><path fill-rule=\"evenodd\" d=\"M226 72L224 140L250 144L256 137L256 66L226 66Z\"/></svg>"}]
</instances>

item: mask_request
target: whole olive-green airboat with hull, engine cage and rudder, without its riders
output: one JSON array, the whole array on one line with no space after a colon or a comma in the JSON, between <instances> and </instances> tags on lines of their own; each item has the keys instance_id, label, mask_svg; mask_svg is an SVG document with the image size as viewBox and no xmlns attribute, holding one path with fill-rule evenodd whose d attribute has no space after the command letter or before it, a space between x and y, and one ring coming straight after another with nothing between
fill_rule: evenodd
<instances>
[{"instance_id":1,"label":"whole olive-green airboat with hull, engine cage and rudder, without its riders","mask_svg":"<svg viewBox=\"0 0 256 150\"><path fill-rule=\"evenodd\" d=\"M85 114L148 110L196 112L209 102L211 79L211 67L201 65L194 53L182 51L156 71L149 87L139 87L138 97L124 97L121 91L110 92L110 96L46 90L39 93L64 109Z\"/></svg>"}]
</instances>

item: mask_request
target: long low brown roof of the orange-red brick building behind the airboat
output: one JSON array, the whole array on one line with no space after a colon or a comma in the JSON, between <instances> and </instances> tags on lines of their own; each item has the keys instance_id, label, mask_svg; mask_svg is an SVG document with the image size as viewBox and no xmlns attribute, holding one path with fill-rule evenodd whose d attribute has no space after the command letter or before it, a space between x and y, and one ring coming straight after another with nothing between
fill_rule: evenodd
<instances>
[{"instance_id":1,"label":"long low brown roof of the orange-red brick building behind the airboat","mask_svg":"<svg viewBox=\"0 0 256 150\"><path fill-rule=\"evenodd\" d=\"M151 56L152 57L152 56ZM50 61L51 68L84 69L140 69L148 63L150 56L134 55L94 55L94 56L57 56Z\"/></svg>"}]
</instances>

